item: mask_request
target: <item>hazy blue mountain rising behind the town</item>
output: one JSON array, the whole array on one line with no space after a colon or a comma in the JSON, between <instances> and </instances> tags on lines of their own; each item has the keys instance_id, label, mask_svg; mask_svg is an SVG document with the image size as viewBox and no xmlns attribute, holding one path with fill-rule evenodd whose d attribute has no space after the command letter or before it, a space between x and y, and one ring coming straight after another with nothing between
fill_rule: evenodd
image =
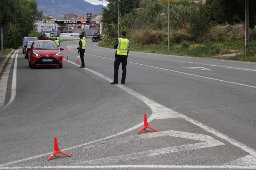
<instances>
[{"instance_id":1,"label":"hazy blue mountain rising behind the town","mask_svg":"<svg viewBox=\"0 0 256 170\"><path fill-rule=\"evenodd\" d=\"M85 0L36 0L37 9L43 11L45 16L51 15L55 18L64 18L64 14L77 14L86 16L87 13L92 15L102 12L102 5L92 5Z\"/></svg>"}]
</instances>

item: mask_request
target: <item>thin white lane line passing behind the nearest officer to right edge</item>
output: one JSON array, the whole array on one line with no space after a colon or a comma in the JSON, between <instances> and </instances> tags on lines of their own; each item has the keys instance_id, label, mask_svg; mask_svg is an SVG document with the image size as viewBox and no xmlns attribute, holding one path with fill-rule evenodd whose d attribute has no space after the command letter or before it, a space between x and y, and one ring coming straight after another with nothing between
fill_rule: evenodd
<instances>
[{"instance_id":1,"label":"thin white lane line passing behind the nearest officer to right edge","mask_svg":"<svg viewBox=\"0 0 256 170\"><path fill-rule=\"evenodd\" d=\"M88 53L85 53L85 54L87 54L87 55L92 55L92 56L96 56L96 57L101 57L101 58L105 58L105 59L111 59L111 58L108 58L108 57L102 57L102 56L98 56L98 55L94 55L94 54L88 54ZM112 59L112 60L114 60L114 59ZM241 83L236 83L236 82L230 82L230 81L226 81L226 80L222 80L222 79L215 79L215 78L206 77L206 76L201 76L201 75L194 75L194 74L191 74L191 73L185 73L185 72L181 72L181 71L170 70L170 69L167 69L167 68L155 67L155 66L150 66L150 65L146 65L146 64L135 63L135 62L131 62L131 61L128 61L128 63L133 63L133 64L137 64L137 65L140 65L140 66L146 66L146 67L151 67L151 68L157 68L157 69L161 69L161 70L167 70L167 71L171 71L171 72L174 72L174 73L181 73L181 74L185 74L185 75L192 75L192 76L195 76L195 77L201 77L201 78L205 78L205 79L216 80L216 81L219 81L219 82L225 82L225 83L236 84L236 85L240 85L240 86L246 86L246 87L256 88L256 86L251 86L251 85L241 84Z\"/></svg>"}]
</instances>

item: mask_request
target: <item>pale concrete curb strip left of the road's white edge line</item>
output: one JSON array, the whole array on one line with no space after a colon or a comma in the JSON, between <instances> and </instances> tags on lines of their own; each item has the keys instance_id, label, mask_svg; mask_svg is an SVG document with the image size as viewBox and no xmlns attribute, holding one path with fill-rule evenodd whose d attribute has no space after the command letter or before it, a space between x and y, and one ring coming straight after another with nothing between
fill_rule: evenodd
<instances>
[{"instance_id":1,"label":"pale concrete curb strip left of the road's white edge line","mask_svg":"<svg viewBox=\"0 0 256 170\"><path fill-rule=\"evenodd\" d=\"M6 66L6 70L0 79L0 109L2 109L5 106L5 97L6 97L5 95L7 92L8 78L10 75L11 65L12 65L13 59L15 58L16 52L17 52L17 50L12 50L7 55L7 57L5 57L4 61L2 61L1 65L0 65L1 73L2 73L3 68ZM8 59L10 59L10 60L7 63Z\"/></svg>"}]
</instances>

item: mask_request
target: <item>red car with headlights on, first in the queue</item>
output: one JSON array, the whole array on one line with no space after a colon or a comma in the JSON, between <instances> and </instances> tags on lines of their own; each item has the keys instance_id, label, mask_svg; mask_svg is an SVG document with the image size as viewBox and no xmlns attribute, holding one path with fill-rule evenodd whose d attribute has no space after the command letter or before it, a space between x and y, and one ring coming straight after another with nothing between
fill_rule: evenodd
<instances>
[{"instance_id":1,"label":"red car with headlights on, first in the queue","mask_svg":"<svg viewBox=\"0 0 256 170\"><path fill-rule=\"evenodd\" d=\"M64 50L59 48L55 41L38 40L34 41L28 51L28 66L58 66L62 68L63 54L60 52Z\"/></svg>"}]
</instances>

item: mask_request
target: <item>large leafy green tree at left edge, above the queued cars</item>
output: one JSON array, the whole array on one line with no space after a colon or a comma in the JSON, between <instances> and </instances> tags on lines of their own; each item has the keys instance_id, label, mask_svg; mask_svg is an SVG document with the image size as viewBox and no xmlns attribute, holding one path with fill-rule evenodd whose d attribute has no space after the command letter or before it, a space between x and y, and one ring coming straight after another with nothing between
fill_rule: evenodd
<instances>
[{"instance_id":1,"label":"large leafy green tree at left edge, above the queued cars","mask_svg":"<svg viewBox=\"0 0 256 170\"><path fill-rule=\"evenodd\" d=\"M4 28L5 47L19 44L43 14L37 10L36 0L1 0L0 9L0 27Z\"/></svg>"}]
</instances>

